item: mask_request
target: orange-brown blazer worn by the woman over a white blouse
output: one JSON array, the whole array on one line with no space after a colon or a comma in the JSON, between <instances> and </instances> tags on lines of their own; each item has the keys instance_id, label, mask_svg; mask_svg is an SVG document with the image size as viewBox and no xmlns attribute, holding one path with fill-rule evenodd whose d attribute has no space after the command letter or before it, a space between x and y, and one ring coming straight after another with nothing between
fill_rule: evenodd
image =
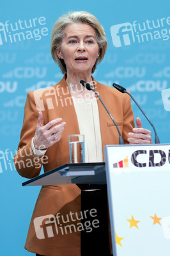
<instances>
[{"instance_id":1,"label":"orange-brown blazer worn by the woman over a white blouse","mask_svg":"<svg viewBox=\"0 0 170 256\"><path fill-rule=\"evenodd\" d=\"M128 132L131 132L134 127L130 97L126 93L120 93L116 89L97 83L94 79L93 82L95 90L102 97L118 124L123 140L128 143ZM99 100L97 102L102 146L104 148L105 145L118 144L119 136L116 127L101 102ZM59 117L66 122L61 140L47 148L45 156L40 159L36 159L31 150L31 140L35 136L38 111L43 113L44 125ZM77 116L65 76L54 86L27 93L19 150L14 158L17 172L22 177L31 179L39 175L42 165L44 172L48 172L61 164L70 163L68 135L79 133ZM58 234L44 239L38 239L35 232L33 222L35 218L49 214L56 216L58 212L60 215L66 216L70 211L81 212L81 189L76 184L42 186L29 225L26 250L49 256L81 256L81 232L70 232L65 235L58 232ZM40 224L40 227L45 230L45 221ZM71 224L69 222L69 225Z\"/></svg>"}]
</instances>

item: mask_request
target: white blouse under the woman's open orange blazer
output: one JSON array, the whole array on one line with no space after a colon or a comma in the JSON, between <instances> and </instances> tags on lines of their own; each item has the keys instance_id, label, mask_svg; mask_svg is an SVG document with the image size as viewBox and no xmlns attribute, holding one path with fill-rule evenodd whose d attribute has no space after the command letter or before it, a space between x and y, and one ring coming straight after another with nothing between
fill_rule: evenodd
<instances>
[{"instance_id":1,"label":"white blouse under the woman's open orange blazer","mask_svg":"<svg viewBox=\"0 0 170 256\"><path fill-rule=\"evenodd\" d=\"M102 138L96 97L73 97L80 134L84 134L85 163L103 162Z\"/></svg>"}]
</instances>

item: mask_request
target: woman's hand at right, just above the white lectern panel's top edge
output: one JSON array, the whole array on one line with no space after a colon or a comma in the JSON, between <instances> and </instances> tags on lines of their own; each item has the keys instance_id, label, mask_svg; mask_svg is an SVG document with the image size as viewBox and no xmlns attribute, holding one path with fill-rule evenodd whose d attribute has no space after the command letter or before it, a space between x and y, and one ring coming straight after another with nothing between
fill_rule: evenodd
<instances>
[{"instance_id":1,"label":"woman's hand at right, just above the white lectern panel's top edge","mask_svg":"<svg viewBox=\"0 0 170 256\"><path fill-rule=\"evenodd\" d=\"M139 117L135 120L137 128L134 128L133 132L128 132L129 144L151 144L151 131L144 129L141 119Z\"/></svg>"}]
</instances>

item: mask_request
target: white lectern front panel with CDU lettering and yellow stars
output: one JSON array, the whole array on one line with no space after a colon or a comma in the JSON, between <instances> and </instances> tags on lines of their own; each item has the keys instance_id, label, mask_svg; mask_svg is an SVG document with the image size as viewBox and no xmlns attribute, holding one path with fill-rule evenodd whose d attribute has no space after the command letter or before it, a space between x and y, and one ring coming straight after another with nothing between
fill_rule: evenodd
<instances>
[{"instance_id":1,"label":"white lectern front panel with CDU lettering and yellow stars","mask_svg":"<svg viewBox=\"0 0 170 256\"><path fill-rule=\"evenodd\" d=\"M114 256L170 255L170 145L105 146Z\"/></svg>"}]
</instances>

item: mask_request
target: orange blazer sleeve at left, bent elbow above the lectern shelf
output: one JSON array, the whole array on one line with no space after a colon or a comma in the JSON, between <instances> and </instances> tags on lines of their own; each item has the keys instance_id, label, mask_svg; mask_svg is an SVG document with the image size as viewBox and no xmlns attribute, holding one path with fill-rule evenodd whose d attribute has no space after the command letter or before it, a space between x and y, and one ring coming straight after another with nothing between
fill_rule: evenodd
<instances>
[{"instance_id":1,"label":"orange blazer sleeve at left, bent elbow above the lectern shelf","mask_svg":"<svg viewBox=\"0 0 170 256\"><path fill-rule=\"evenodd\" d=\"M20 142L17 153L14 157L14 164L17 172L26 178L33 178L40 174L44 158L36 158L31 148L31 140L35 136L36 124L38 121L38 110L36 109L33 92L27 93L24 108L24 121L20 132Z\"/></svg>"}]
</instances>

